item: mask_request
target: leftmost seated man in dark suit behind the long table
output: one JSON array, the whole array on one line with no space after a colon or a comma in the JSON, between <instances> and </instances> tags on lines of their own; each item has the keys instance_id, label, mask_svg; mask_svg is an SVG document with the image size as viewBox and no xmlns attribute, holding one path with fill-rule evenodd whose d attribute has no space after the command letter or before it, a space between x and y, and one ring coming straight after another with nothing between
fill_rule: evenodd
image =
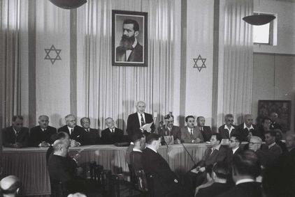
<instances>
[{"instance_id":1,"label":"leftmost seated man in dark suit behind the long table","mask_svg":"<svg viewBox=\"0 0 295 197\"><path fill-rule=\"evenodd\" d=\"M11 148L27 147L29 143L29 128L22 127L22 116L13 116L13 125L2 129L3 146Z\"/></svg>"}]
</instances>

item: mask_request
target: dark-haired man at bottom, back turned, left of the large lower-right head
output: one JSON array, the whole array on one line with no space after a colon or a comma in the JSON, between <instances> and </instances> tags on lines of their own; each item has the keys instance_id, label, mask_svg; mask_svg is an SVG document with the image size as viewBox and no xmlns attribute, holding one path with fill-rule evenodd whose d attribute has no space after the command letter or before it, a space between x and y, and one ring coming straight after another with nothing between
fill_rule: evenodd
<instances>
[{"instance_id":1,"label":"dark-haired man at bottom, back turned, left of the large lower-right head","mask_svg":"<svg viewBox=\"0 0 295 197\"><path fill-rule=\"evenodd\" d=\"M225 162L217 162L213 165L211 177L214 182L209 187L199 190L195 197L214 197L219 194L229 191L231 185L227 183L226 178L229 175L229 167Z\"/></svg>"}]
</instances>

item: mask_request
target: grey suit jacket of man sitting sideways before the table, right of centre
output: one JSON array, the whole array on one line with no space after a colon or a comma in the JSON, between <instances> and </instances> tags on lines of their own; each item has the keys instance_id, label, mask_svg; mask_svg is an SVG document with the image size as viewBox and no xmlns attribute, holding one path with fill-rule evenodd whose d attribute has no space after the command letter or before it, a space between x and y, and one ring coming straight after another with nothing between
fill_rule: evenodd
<instances>
[{"instance_id":1,"label":"grey suit jacket of man sitting sideways before the table, right of centre","mask_svg":"<svg viewBox=\"0 0 295 197\"><path fill-rule=\"evenodd\" d=\"M203 159L199 161L198 166L209 166L213 165L216 162L226 161L227 150L223 145L220 145L220 150L213 150L208 147L205 151Z\"/></svg>"}]
</instances>

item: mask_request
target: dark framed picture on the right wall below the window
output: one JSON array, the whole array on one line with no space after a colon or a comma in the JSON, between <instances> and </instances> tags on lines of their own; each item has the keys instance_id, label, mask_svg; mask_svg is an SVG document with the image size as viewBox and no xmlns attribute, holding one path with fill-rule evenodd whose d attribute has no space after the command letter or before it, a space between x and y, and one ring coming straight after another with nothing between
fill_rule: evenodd
<instances>
[{"instance_id":1,"label":"dark framed picture on the right wall below the window","mask_svg":"<svg viewBox=\"0 0 295 197\"><path fill-rule=\"evenodd\" d=\"M278 123L283 131L290 129L291 125L291 100L259 100L258 118L269 117L271 113L278 113Z\"/></svg>"}]
</instances>

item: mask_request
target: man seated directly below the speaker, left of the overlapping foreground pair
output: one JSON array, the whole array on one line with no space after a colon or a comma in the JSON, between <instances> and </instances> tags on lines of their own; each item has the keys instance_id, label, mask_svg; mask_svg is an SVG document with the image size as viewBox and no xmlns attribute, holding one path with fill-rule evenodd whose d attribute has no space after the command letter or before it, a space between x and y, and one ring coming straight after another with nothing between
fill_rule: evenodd
<instances>
[{"instance_id":1,"label":"man seated directly below the speaker, left of the overlapping foreground pair","mask_svg":"<svg viewBox=\"0 0 295 197\"><path fill-rule=\"evenodd\" d=\"M143 134L134 134L132 136L132 142L134 148L130 152L130 164L134 167L134 171L143 170L143 164L141 162L142 152L145 149L145 136Z\"/></svg>"}]
</instances>

